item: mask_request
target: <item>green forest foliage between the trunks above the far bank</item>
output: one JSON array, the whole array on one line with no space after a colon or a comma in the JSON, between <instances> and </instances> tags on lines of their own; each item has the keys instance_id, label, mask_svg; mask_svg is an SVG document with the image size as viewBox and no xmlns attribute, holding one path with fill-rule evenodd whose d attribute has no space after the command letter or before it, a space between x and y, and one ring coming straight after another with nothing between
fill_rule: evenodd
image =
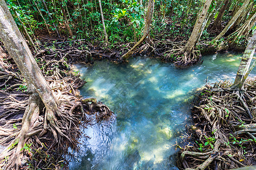
<instances>
[{"instance_id":1,"label":"green forest foliage between the trunks above the far bank","mask_svg":"<svg viewBox=\"0 0 256 170\"><path fill-rule=\"evenodd\" d=\"M104 40L98 1L49 0L45 1L48 9L44 5L44 1L7 0L6 2L19 28L23 29L22 23L24 23L28 33L34 39L41 36L42 33L47 33L47 29L49 29L50 34L54 34L57 29L61 36L69 36L67 22L64 19L66 16L74 38ZM143 33L147 1L104 0L101 3L109 41L112 44L115 42L138 41ZM224 1L220 0L212 1L208 11L210 20L207 23L207 27L210 23L214 23L220 7L224 5L223 3ZM243 0L230 0L228 3L229 5L226 7L225 14L222 17L222 27L229 22L238 8L242 6ZM245 23L255 13L256 1L254 0L252 3L247 7L246 15L242 16L241 22L237 23L238 25ZM151 36L154 38L161 35L161 39L172 37L174 40L187 40L203 5L204 1L200 0L155 1ZM17 15L15 15L15 12ZM50 15L48 15L48 12ZM216 30L205 28L201 39L212 40L214 34L216 34Z\"/></svg>"}]
</instances>

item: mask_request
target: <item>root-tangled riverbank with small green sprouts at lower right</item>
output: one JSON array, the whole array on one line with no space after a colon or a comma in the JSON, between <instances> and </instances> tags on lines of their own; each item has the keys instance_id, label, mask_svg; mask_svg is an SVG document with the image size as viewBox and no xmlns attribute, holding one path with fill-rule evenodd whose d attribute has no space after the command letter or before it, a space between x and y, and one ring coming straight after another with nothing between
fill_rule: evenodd
<instances>
[{"instance_id":1,"label":"root-tangled riverbank with small green sprouts at lower right","mask_svg":"<svg viewBox=\"0 0 256 170\"><path fill-rule=\"evenodd\" d=\"M245 91L230 89L229 81L205 86L192 109L195 125L180 147L181 169L233 169L256 164L256 78ZM182 142L184 144L184 142Z\"/></svg>"}]
</instances>

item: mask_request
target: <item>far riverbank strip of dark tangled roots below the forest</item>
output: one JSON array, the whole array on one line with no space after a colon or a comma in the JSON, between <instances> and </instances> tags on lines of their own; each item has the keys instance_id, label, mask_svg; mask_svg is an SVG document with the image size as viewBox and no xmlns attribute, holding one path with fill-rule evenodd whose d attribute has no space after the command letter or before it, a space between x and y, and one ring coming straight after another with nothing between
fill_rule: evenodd
<instances>
[{"instance_id":1,"label":"far riverbank strip of dark tangled roots below the forest","mask_svg":"<svg viewBox=\"0 0 256 170\"><path fill-rule=\"evenodd\" d=\"M162 32L166 33L166 31ZM212 35L213 36L213 35ZM183 48L186 44L187 37L180 37L180 39L174 39L174 37L167 37L166 35L163 38L163 35L157 35L154 37L154 46L151 46L148 43L144 43L134 50L131 57L134 56L148 56L150 58L159 58L163 62L175 63L177 61L177 56L172 54L173 50ZM93 64L93 61L96 59L109 59L114 63L129 62L123 61L121 57L123 54L127 53L129 49L133 48L136 42L116 42L109 46L106 46L104 43L98 39L63 39L50 38L50 37L40 37L39 38L39 53L40 54L51 54L49 56L57 56L60 53L65 53L63 56L64 59L68 59L68 62L72 63L86 63ZM201 40L195 47L196 51L199 51L199 58L192 62L191 65L195 65L201 61L201 55L214 54L217 52L238 52L241 53L245 50L246 44L233 44L229 46L227 42L219 41L216 44L208 44L209 39ZM224 41L224 40L223 40ZM246 42L244 42L246 43ZM189 66L191 66L189 65Z\"/></svg>"}]
</instances>

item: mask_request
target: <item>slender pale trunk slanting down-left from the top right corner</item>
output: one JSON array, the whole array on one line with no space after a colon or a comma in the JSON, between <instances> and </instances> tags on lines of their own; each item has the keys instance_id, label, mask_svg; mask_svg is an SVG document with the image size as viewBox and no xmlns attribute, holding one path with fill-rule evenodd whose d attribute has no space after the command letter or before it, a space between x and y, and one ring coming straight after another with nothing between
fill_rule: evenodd
<instances>
[{"instance_id":1,"label":"slender pale trunk slanting down-left from the top right corner","mask_svg":"<svg viewBox=\"0 0 256 170\"><path fill-rule=\"evenodd\" d=\"M250 2L250 0L245 0L245 2L243 2L243 5L236 12L236 14L233 16L233 18L229 21L228 25L226 25L226 27L223 29L223 31L221 31L221 33L212 41L217 41L222 36L224 36L224 34L229 30L229 28L231 28L232 25L236 22L237 18L241 15L242 11L245 10L245 8L248 6L249 2Z\"/></svg>"}]
</instances>

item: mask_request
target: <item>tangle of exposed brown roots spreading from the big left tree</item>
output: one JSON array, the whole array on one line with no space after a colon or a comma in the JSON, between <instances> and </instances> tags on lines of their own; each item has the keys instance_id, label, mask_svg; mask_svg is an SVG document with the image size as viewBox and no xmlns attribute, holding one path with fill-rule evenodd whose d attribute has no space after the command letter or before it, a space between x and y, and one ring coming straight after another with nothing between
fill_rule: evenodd
<instances>
[{"instance_id":1,"label":"tangle of exposed brown roots spreading from the big left tree","mask_svg":"<svg viewBox=\"0 0 256 170\"><path fill-rule=\"evenodd\" d=\"M1 71L0 86L6 88L0 90L0 145L6 148L0 154L0 168L24 168L26 160L30 162L27 168L57 169L63 165L68 168L68 162L64 161L69 155L68 148L79 150L81 128L92 124L86 114L95 112L98 122L114 117L106 105L95 100L94 107L88 108L88 102L80 99L77 88L85 82L78 74L65 71L69 65L61 53L40 57L43 54L43 51L38 53L36 61L59 101L59 110L44 107L40 97L26 91L26 83L19 76ZM88 50L79 49L68 52L67 56L83 54L91 56Z\"/></svg>"}]
</instances>

